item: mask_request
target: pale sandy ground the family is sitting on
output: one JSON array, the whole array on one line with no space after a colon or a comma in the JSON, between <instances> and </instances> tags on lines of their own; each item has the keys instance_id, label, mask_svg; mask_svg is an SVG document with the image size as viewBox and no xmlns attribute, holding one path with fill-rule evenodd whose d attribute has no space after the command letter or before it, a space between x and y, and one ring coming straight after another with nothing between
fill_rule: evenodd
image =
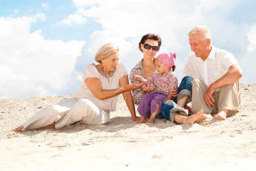
<instances>
[{"instance_id":1,"label":"pale sandy ground the family is sitting on","mask_svg":"<svg viewBox=\"0 0 256 171\"><path fill-rule=\"evenodd\" d=\"M10 130L71 95L2 99L0 170L255 170L256 84L240 84L240 90L240 112L227 120L137 124L120 95L107 125L24 132Z\"/></svg>"}]
</instances>

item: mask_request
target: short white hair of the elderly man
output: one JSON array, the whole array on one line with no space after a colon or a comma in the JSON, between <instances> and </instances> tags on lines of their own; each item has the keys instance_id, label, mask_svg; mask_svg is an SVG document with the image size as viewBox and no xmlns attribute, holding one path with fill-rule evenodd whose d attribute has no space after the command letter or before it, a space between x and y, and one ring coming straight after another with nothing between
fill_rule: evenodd
<instances>
[{"instance_id":1,"label":"short white hair of the elderly man","mask_svg":"<svg viewBox=\"0 0 256 171\"><path fill-rule=\"evenodd\" d=\"M202 25L195 26L188 33L189 37L196 36L196 35L200 36L204 42L206 42L208 39L211 40L211 32L207 26L202 26Z\"/></svg>"}]
</instances>

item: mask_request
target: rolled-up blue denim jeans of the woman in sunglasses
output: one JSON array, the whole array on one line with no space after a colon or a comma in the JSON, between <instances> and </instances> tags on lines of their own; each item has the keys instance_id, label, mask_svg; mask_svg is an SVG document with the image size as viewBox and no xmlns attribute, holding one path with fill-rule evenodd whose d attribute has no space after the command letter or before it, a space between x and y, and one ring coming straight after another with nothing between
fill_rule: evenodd
<instances>
[{"instance_id":1,"label":"rolled-up blue denim jeans of the woman in sunglasses","mask_svg":"<svg viewBox=\"0 0 256 171\"><path fill-rule=\"evenodd\" d=\"M180 86L178 88L178 95L177 95L177 100L180 100L183 98L185 95L189 95L189 98L186 102L188 104L191 102L192 98L192 84L191 82L193 81L193 78L190 76L186 76L182 78L182 81L180 83ZM188 115L188 111L179 105L176 104L177 100L168 100L167 102L163 102L162 104L162 109L161 113L159 113L156 118L157 119L162 119L166 118L167 120L171 120L174 122L174 116L178 112L181 115ZM150 113L148 114L148 118L150 118Z\"/></svg>"}]
</instances>

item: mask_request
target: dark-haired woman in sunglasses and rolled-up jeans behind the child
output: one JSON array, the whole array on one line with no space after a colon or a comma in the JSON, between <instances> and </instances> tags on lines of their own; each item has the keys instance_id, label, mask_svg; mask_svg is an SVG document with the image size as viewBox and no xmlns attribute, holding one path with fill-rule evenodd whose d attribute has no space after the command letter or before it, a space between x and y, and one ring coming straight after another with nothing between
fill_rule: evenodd
<instances>
[{"instance_id":1,"label":"dark-haired woman in sunglasses and rolled-up jeans behind the child","mask_svg":"<svg viewBox=\"0 0 256 171\"><path fill-rule=\"evenodd\" d=\"M129 79L132 84L140 84L139 80L136 80L135 76L139 75L144 79L149 78L153 73L157 72L155 66L155 55L159 51L161 46L161 38L158 34L148 33L142 36L139 42L139 50L143 53L143 58L135 65L131 70ZM188 116L189 111L184 109L189 102L191 102L191 82L193 78L184 77L180 83L180 87L177 89L170 90L172 97L180 101L180 106L177 105L173 100L168 100L162 104L161 113L156 118L166 118L172 122L178 124L193 124L195 121L200 122L203 120L202 111ZM156 87L153 84L142 85L141 88L132 90L133 102L138 105L141 97L146 93L155 92ZM179 93L178 93L179 91ZM191 111L191 109L189 109ZM150 118L150 113L148 114Z\"/></svg>"}]
</instances>

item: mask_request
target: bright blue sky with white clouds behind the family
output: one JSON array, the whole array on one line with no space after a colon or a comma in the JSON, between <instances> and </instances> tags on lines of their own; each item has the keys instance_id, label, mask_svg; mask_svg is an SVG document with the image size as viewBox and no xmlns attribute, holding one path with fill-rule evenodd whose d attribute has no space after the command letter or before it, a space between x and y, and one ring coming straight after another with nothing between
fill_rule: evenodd
<instances>
[{"instance_id":1,"label":"bright blue sky with white clouds behind the family","mask_svg":"<svg viewBox=\"0 0 256 171\"><path fill-rule=\"evenodd\" d=\"M146 33L161 36L158 53L176 53L180 80L193 54L187 32L199 24L238 60L240 83L255 83L255 9L252 0L0 0L0 99L74 94L83 68L108 42L119 45L130 73Z\"/></svg>"}]
</instances>

